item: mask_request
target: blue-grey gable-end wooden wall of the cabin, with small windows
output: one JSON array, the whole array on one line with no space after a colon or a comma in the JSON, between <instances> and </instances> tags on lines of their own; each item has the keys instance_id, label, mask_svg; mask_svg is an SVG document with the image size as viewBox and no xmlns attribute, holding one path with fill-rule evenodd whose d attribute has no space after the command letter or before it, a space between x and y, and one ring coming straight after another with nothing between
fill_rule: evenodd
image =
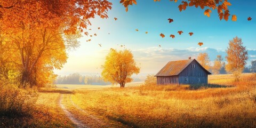
<instances>
[{"instance_id":1,"label":"blue-grey gable-end wooden wall of the cabin, with small windows","mask_svg":"<svg viewBox=\"0 0 256 128\"><path fill-rule=\"evenodd\" d=\"M191 65L195 65L195 68L192 68ZM185 78L188 81L185 81ZM197 79L200 79L198 82ZM208 74L206 71L196 62L192 61L180 74L179 74L179 83L180 84L207 84Z\"/></svg>"}]
</instances>

